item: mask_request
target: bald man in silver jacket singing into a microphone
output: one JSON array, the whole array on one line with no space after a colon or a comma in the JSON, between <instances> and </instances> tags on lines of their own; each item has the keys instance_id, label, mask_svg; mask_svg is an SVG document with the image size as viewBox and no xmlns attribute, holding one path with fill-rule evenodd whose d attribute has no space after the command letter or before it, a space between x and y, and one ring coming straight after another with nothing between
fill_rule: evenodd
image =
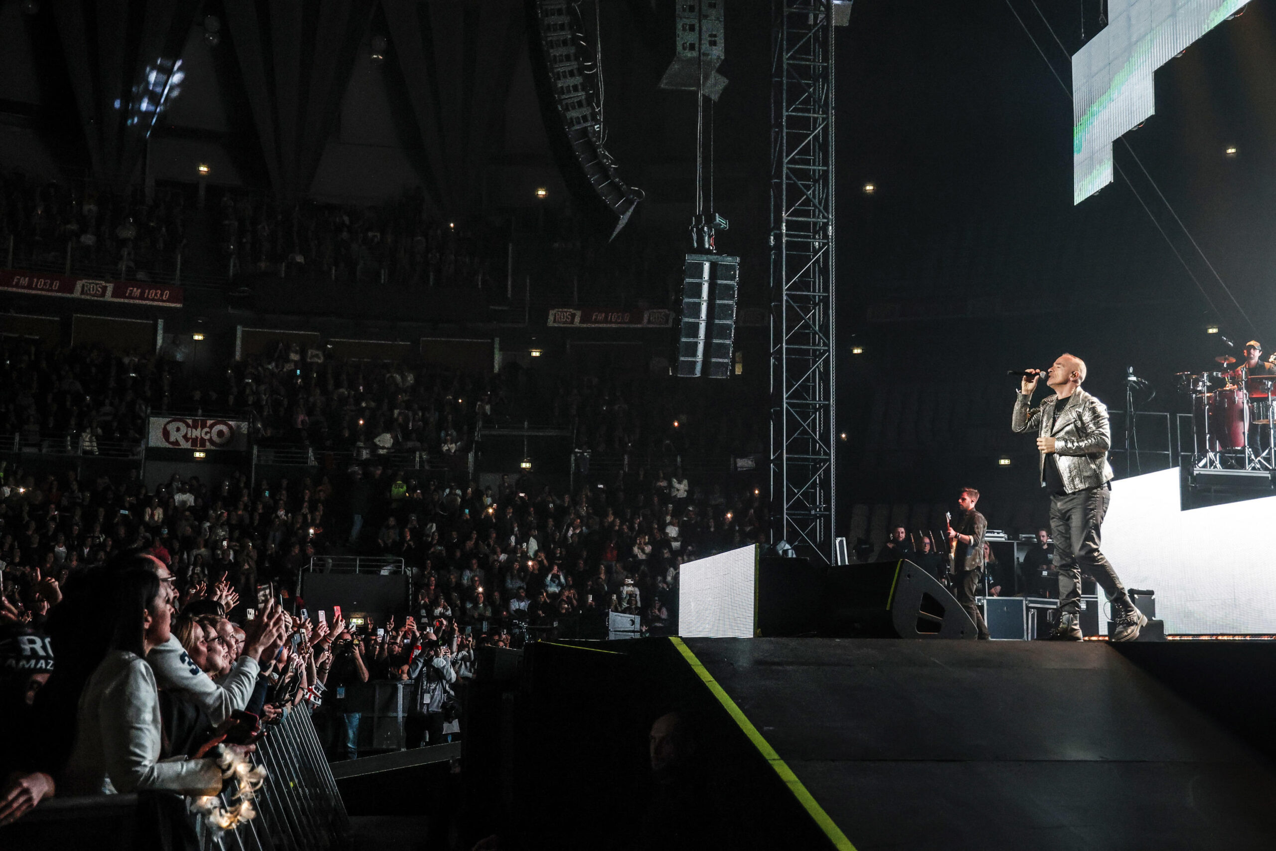
<instances>
[{"instance_id":1,"label":"bald man in silver jacket singing into a microphone","mask_svg":"<svg viewBox=\"0 0 1276 851\"><path fill-rule=\"evenodd\" d=\"M1042 375L1054 394L1030 408ZM1073 355L1060 355L1045 373L1027 370L1014 399L1011 429L1018 434L1036 429L1041 486L1050 492L1050 537L1059 570L1059 624L1050 638L1081 640L1085 573L1111 602L1111 640L1129 642L1138 638L1147 618L1131 602L1116 570L1099 550L1100 527L1111 500L1111 427L1104 403L1081 389L1085 380L1086 364Z\"/></svg>"}]
</instances>

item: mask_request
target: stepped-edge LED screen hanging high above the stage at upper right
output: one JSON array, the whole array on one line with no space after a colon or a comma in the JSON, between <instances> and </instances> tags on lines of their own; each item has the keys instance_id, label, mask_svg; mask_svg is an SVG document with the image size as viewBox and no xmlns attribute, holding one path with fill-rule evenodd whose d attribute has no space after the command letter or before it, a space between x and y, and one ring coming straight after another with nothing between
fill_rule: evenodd
<instances>
[{"instance_id":1,"label":"stepped-edge LED screen hanging high above the stage at upper right","mask_svg":"<svg viewBox=\"0 0 1276 851\"><path fill-rule=\"evenodd\" d=\"M1109 0L1072 57L1073 203L1113 181L1113 142L1156 111L1152 71L1249 0Z\"/></svg>"}]
</instances>

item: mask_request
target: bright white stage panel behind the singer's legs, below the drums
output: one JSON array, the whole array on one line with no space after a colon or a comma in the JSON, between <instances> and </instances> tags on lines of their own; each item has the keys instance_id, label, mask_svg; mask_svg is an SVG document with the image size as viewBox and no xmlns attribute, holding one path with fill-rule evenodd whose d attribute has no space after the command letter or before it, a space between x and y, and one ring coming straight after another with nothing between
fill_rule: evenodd
<instances>
[{"instance_id":1,"label":"bright white stage panel behind the singer's legs, below the drums","mask_svg":"<svg viewBox=\"0 0 1276 851\"><path fill-rule=\"evenodd\" d=\"M1188 512L1179 499L1178 470L1113 482L1102 551L1116 575L1156 592L1166 633L1276 633L1276 496Z\"/></svg>"}]
</instances>

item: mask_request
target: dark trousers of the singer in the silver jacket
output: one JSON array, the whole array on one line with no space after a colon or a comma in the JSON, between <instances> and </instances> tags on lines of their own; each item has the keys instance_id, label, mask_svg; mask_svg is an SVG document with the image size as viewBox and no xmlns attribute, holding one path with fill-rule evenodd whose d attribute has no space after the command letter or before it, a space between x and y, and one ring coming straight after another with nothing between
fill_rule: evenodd
<instances>
[{"instance_id":1,"label":"dark trousers of the singer in the silver jacket","mask_svg":"<svg viewBox=\"0 0 1276 851\"><path fill-rule=\"evenodd\" d=\"M1113 618L1131 609L1116 570L1099 549L1100 527L1111 501L1108 485L1050 498L1050 537L1059 570L1059 614L1081 615L1081 577L1092 578L1113 603Z\"/></svg>"}]
</instances>

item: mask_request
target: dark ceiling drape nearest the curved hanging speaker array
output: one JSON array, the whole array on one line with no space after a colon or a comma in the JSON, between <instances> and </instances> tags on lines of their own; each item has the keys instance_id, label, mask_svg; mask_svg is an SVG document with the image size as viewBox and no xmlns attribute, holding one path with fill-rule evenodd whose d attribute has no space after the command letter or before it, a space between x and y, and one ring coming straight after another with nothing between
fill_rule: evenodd
<instances>
[{"instance_id":1,"label":"dark ceiling drape nearest the curved hanging speaker array","mask_svg":"<svg viewBox=\"0 0 1276 851\"><path fill-rule=\"evenodd\" d=\"M476 212L527 48L522 0L383 0L382 9L419 131L421 181L449 216Z\"/></svg>"}]
</instances>

